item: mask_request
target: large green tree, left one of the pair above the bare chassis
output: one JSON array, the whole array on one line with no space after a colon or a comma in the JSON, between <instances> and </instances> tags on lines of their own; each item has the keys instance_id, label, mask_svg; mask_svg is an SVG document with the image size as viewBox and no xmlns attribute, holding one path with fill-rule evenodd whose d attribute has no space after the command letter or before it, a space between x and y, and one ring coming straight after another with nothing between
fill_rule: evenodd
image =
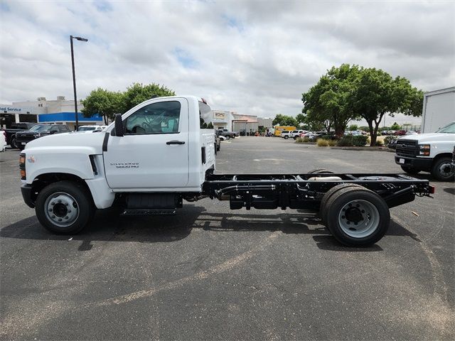
<instances>
[{"instance_id":1,"label":"large green tree, left one of the pair above the bare chassis","mask_svg":"<svg viewBox=\"0 0 455 341\"><path fill-rule=\"evenodd\" d=\"M353 92L358 72L357 65L343 64L332 67L316 85L302 94L302 112L306 116L306 122L323 124L327 133L333 127L336 135L342 136L348 122L358 117L353 107Z\"/></svg>"}]
</instances>

